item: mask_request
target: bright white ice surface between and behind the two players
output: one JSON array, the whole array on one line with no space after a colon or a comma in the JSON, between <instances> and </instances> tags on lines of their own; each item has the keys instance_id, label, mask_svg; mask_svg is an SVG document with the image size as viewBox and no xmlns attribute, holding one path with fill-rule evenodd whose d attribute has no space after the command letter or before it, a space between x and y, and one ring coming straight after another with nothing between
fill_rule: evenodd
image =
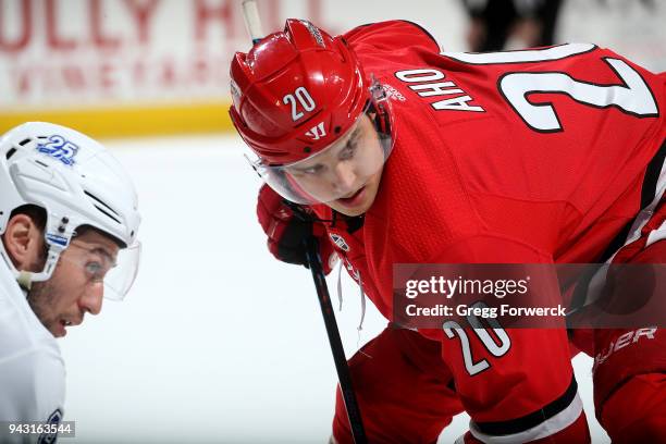
<instances>
[{"instance_id":1,"label":"bright white ice surface between and behind the two players","mask_svg":"<svg viewBox=\"0 0 666 444\"><path fill-rule=\"evenodd\" d=\"M107 144L135 178L144 255L123 303L104 303L60 341L72 443L324 443L335 371L309 271L269 255L255 217L259 178L232 136ZM344 275L347 356L385 321ZM329 276L335 300L335 279ZM577 378L594 443L589 358ZM539 370L535 370L539 371ZM378 375L381 378L381 375ZM458 416L440 440L467 427ZM63 440L64 442L64 440Z\"/></svg>"}]
</instances>

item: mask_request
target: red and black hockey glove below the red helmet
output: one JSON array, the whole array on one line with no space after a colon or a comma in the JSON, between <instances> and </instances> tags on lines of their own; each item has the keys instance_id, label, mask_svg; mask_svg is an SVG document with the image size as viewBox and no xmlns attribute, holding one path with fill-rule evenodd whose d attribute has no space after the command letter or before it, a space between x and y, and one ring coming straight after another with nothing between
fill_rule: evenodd
<instances>
[{"instance_id":1,"label":"red and black hockey glove below the red helmet","mask_svg":"<svg viewBox=\"0 0 666 444\"><path fill-rule=\"evenodd\" d=\"M328 274L333 267L333 245L326 229L316 220L309 207L288 203L270 186L263 185L257 200L257 218L268 236L269 251L279 260L307 267L304 240L316 236L319 254Z\"/></svg>"}]
</instances>

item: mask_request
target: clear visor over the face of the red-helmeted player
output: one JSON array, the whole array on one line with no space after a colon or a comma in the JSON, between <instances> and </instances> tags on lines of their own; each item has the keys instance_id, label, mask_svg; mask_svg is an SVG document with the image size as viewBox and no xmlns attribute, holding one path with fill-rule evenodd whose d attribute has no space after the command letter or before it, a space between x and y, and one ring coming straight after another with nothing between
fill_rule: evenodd
<instances>
[{"instance_id":1,"label":"clear visor over the face of the red-helmeted player","mask_svg":"<svg viewBox=\"0 0 666 444\"><path fill-rule=\"evenodd\" d=\"M284 165L250 161L278 194L296 203L328 203L350 198L383 166L393 147L388 100L381 87L337 140L307 159ZM378 115L378 110L379 114Z\"/></svg>"}]
</instances>

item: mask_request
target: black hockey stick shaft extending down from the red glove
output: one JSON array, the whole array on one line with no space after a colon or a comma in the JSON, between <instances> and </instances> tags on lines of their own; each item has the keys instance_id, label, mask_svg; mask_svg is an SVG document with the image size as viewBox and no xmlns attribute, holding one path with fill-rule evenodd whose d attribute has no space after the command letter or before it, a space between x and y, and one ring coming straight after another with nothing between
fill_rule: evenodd
<instances>
[{"instance_id":1,"label":"black hockey stick shaft extending down from the red glove","mask_svg":"<svg viewBox=\"0 0 666 444\"><path fill-rule=\"evenodd\" d=\"M340 331L337 330L337 322L335 321L335 313L333 312L333 305L331 304L331 297L329 295L329 286L321 264L321 257L319 256L319 243L314 236L310 236L306 239L306 256L308 259L308 266L312 272L312 280L314 281L314 287L317 288L317 297L321 307L321 314L324 319L324 325L326 326L326 334L329 335L329 343L331 344L331 353L333 354L333 361L335 361L335 370L337 371L337 380L340 381L340 391L342 392L343 399L345 402L345 409L347 410L347 418L349 419L349 425L351 428L351 435L356 444L366 444L368 439L366 437L366 430L363 429L363 421L356 402L356 395L354 393L354 386L351 385L351 377L349 375L349 368L347 367L347 359L345 358L345 350L342 346L342 340L340 338Z\"/></svg>"}]
</instances>

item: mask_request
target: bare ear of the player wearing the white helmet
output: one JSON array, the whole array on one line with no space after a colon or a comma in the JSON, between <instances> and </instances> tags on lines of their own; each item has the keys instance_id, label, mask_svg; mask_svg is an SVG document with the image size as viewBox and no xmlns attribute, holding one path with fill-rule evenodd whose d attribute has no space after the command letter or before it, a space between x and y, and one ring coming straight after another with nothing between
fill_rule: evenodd
<instances>
[{"instance_id":1,"label":"bare ear of the player wearing the white helmet","mask_svg":"<svg viewBox=\"0 0 666 444\"><path fill-rule=\"evenodd\" d=\"M42 256L44 237L29 215L13 215L7 224L2 242L16 270L39 271L37 268Z\"/></svg>"}]
</instances>

